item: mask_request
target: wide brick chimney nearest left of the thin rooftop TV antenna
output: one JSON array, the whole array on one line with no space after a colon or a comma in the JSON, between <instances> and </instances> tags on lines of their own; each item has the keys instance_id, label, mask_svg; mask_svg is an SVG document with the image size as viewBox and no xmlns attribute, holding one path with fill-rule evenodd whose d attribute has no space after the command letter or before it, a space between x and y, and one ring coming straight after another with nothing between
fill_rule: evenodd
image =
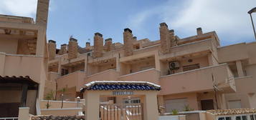
<instances>
[{"instance_id":1,"label":"wide brick chimney nearest left of the thin rooftop TV antenna","mask_svg":"<svg viewBox=\"0 0 256 120\"><path fill-rule=\"evenodd\" d=\"M77 49L78 49L78 44L77 44L77 39L74 39L70 37L70 41L68 42L68 59L75 59L77 58Z\"/></svg>"}]
</instances>

